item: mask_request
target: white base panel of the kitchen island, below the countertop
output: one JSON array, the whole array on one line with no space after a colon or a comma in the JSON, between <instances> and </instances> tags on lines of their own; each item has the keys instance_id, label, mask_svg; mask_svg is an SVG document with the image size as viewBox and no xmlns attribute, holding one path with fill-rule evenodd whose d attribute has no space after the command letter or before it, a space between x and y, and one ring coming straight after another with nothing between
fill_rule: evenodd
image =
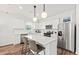
<instances>
[{"instance_id":1,"label":"white base panel of the kitchen island, below the countertop","mask_svg":"<svg viewBox=\"0 0 79 59\"><path fill-rule=\"evenodd\" d=\"M44 55L44 51L41 51L39 54ZM57 40L45 45L45 55L57 55Z\"/></svg>"}]
</instances>

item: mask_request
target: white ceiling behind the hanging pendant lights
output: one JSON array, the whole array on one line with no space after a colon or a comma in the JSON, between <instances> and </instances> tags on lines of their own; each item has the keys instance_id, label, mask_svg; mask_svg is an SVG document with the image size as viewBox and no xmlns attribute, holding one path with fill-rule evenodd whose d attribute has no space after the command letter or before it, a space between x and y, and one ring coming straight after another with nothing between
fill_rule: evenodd
<instances>
[{"instance_id":1,"label":"white ceiling behind the hanging pendant lights","mask_svg":"<svg viewBox=\"0 0 79 59\"><path fill-rule=\"evenodd\" d=\"M20 6L23 9L20 9ZM24 21L32 21L34 11L33 6L33 4L2 4L0 5L0 12ZM48 13L48 17L73 8L74 5L72 4L46 4L46 12ZM43 5L37 4L36 15L38 19L42 19L42 10Z\"/></svg>"}]
</instances>

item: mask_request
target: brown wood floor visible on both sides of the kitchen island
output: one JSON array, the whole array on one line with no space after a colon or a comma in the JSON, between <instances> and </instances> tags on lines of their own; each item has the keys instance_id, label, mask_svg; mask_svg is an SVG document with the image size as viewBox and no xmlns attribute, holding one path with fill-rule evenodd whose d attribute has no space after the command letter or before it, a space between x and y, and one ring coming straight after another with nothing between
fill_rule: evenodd
<instances>
[{"instance_id":1,"label":"brown wood floor visible on both sides of the kitchen island","mask_svg":"<svg viewBox=\"0 0 79 59\"><path fill-rule=\"evenodd\" d=\"M7 45L0 47L0 55L23 55L22 51L25 52L25 48L22 49L21 44ZM58 55L75 55L73 52L66 49L57 48Z\"/></svg>"}]
</instances>

